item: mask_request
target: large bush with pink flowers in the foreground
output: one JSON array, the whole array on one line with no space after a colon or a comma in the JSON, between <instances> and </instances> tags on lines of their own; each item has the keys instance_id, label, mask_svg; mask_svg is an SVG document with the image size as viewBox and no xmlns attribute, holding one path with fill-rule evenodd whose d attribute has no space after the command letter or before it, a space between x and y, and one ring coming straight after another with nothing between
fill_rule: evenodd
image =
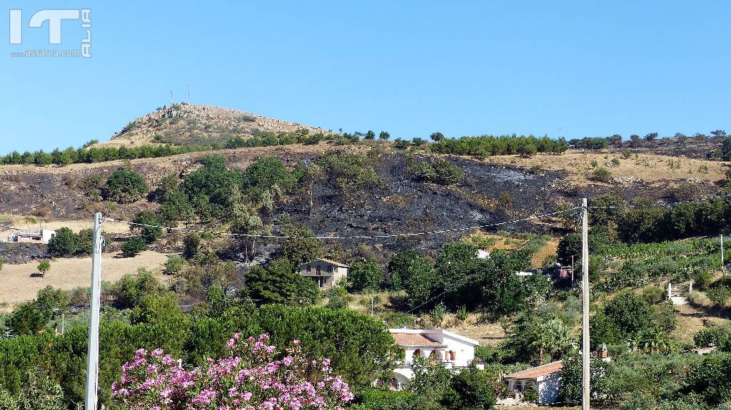
<instances>
[{"instance_id":1,"label":"large bush with pink flowers in the foreground","mask_svg":"<svg viewBox=\"0 0 731 410\"><path fill-rule=\"evenodd\" d=\"M139 349L112 395L129 410L332 410L352 400L330 360L307 360L296 340L277 360L268 339L236 333L228 357L190 371L162 349Z\"/></svg>"}]
</instances>

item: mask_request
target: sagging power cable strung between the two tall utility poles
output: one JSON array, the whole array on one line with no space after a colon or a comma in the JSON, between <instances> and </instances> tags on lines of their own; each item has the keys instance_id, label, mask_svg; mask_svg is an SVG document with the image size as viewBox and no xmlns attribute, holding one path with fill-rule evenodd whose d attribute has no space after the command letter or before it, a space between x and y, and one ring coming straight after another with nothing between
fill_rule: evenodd
<instances>
[{"instance_id":1,"label":"sagging power cable strung between the two tall utility poles","mask_svg":"<svg viewBox=\"0 0 731 410\"><path fill-rule=\"evenodd\" d=\"M484 228L492 228L495 226L501 226L501 225L510 225L513 223L520 223L520 222L526 222L529 220L537 220L545 217L552 217L558 214L566 214L568 212L576 211L577 209L580 209L580 206L576 206L574 208L569 209L563 209L561 211L557 212L550 212L548 214L539 214L539 215L532 215L530 217L521 218L518 220L509 220L509 221L503 221L499 223L490 223L487 225L476 225L476 226L469 226L466 228L450 228L450 229L442 229L438 231L424 231L424 232L409 232L409 233L390 233L385 235L355 235L355 236L326 236L326 235L317 235L317 236L295 236L295 235L260 235L260 234L254 234L254 233L232 233L227 231L201 231L196 229L189 229L189 228L175 228L172 226L164 226L164 225L151 225L147 223L135 223L135 222L129 222L124 220L113 220L112 218L105 218L105 220L111 221L111 222L121 222L121 223L127 223L128 225L132 226L138 226L140 228L159 228L159 229L165 229L167 231L181 231L181 232L189 232L189 233L207 233L211 235L219 235L219 236L233 236L233 237L244 237L244 238L260 238L260 239L334 239L334 240L342 240L342 239L389 239L389 238L399 238L402 236L425 236L425 235L436 235L436 234L442 234L442 233L450 233L450 232L463 232L463 231L472 231L474 229L484 229Z\"/></svg>"}]
</instances>

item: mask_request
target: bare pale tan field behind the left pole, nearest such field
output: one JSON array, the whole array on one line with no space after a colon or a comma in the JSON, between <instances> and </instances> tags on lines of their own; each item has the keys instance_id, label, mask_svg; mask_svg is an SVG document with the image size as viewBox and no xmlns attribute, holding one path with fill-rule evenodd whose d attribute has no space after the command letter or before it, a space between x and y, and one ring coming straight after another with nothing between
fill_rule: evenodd
<instances>
[{"instance_id":1,"label":"bare pale tan field behind the left pole, nearest such field","mask_svg":"<svg viewBox=\"0 0 731 410\"><path fill-rule=\"evenodd\" d=\"M142 252L135 258L121 258L118 253L105 254L102 259L102 280L113 282L125 274L135 274L139 268L157 270L167 256L152 251ZM91 284L91 258L64 258L50 261L50 271L44 277L36 276L38 261L20 265L5 265L0 270L0 303L3 309L12 309L23 301L36 297L46 286L70 290Z\"/></svg>"}]
</instances>

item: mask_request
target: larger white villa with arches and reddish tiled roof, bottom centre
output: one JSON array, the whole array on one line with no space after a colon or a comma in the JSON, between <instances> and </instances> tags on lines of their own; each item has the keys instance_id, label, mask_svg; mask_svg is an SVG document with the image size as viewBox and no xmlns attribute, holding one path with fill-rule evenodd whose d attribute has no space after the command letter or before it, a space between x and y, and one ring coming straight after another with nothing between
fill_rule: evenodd
<instances>
[{"instance_id":1,"label":"larger white villa with arches and reddish tiled roof, bottom centre","mask_svg":"<svg viewBox=\"0 0 731 410\"><path fill-rule=\"evenodd\" d=\"M405 354L401 363L394 369L395 387L401 389L409 385L414 377L412 364L414 357L431 357L435 362L453 371L461 371L471 365L484 366L474 360L474 348L480 342L444 329L389 329L393 339Z\"/></svg>"}]
</instances>

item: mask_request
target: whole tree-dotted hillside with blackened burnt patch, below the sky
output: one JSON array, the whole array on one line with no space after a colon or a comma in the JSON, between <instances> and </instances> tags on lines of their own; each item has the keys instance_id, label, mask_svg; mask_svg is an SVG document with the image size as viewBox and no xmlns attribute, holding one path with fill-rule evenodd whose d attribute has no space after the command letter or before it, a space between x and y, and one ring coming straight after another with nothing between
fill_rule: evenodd
<instances>
[{"instance_id":1,"label":"whole tree-dotted hillside with blackened burnt patch, below the sky","mask_svg":"<svg viewBox=\"0 0 731 410\"><path fill-rule=\"evenodd\" d=\"M0 167L4 229L57 228L42 258L0 270L24 288L0 315L0 405L47 389L72 409L83 395L88 275L74 270L90 252L80 221L96 211L117 220L105 229L105 258L114 255L105 269L115 274L102 290L100 400L109 408L122 406L110 386L137 348L162 347L192 368L222 357L237 332L268 333L281 349L296 339L317 360L330 357L355 392L352 409L491 409L513 395L501 374L552 360L564 360L561 402L577 403L580 278L556 267L580 272L583 197L591 349L607 345L613 357L592 363L593 403L710 410L731 398L731 282L717 236L731 225L721 160L731 139L720 155L691 159L667 155L680 137L651 134L434 133L428 143L392 142L385 131L249 130L265 122L235 112L208 112L209 134L186 123L205 112L160 109L113 144L85 149L119 155L130 152L126 141L184 153ZM177 131L147 139L162 129ZM315 258L348 264L347 280L319 290L296 273ZM688 306L673 305L669 284ZM67 331L57 335L61 317ZM401 351L387 328L414 326L480 340L485 370L453 375L425 360L405 392L388 391ZM692 351L711 345L705 357Z\"/></svg>"}]
</instances>

